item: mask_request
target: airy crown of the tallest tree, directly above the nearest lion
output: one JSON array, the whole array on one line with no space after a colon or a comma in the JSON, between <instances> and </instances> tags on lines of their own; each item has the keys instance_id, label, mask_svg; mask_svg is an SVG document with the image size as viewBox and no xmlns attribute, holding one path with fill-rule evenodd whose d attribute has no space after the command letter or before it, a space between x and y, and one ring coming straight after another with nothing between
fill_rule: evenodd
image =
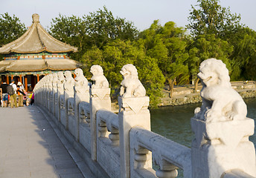
<instances>
[{"instance_id":1,"label":"airy crown of the tallest tree, directly above the nearest lion","mask_svg":"<svg viewBox=\"0 0 256 178\"><path fill-rule=\"evenodd\" d=\"M240 27L240 15L231 14L228 8L220 6L220 0L197 0L196 7L192 7L187 27L193 36L215 34L224 38Z\"/></svg>"}]
</instances>

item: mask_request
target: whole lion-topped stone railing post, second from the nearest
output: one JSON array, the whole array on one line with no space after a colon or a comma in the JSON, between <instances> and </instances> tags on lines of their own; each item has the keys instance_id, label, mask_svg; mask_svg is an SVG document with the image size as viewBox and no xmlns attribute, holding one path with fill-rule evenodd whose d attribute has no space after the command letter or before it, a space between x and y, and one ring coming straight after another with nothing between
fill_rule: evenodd
<instances>
[{"instance_id":1,"label":"whole lion-topped stone railing post, second from the nearest","mask_svg":"<svg viewBox=\"0 0 256 178\"><path fill-rule=\"evenodd\" d=\"M150 131L150 111L148 110L150 98L145 96L146 90L138 80L135 66L124 65L121 74L124 76L120 97L118 97L121 177L130 177L129 131L134 126ZM152 154L148 154L145 159L150 159L144 162L147 168L151 168Z\"/></svg>"}]
</instances>

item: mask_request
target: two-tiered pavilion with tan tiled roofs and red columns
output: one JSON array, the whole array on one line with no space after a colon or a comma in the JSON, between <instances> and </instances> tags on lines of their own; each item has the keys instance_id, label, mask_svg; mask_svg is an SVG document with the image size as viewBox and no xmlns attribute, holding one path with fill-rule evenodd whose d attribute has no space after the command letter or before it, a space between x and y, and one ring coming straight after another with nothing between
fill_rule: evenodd
<instances>
[{"instance_id":1,"label":"two-tiered pavilion with tan tiled roofs and red columns","mask_svg":"<svg viewBox=\"0 0 256 178\"><path fill-rule=\"evenodd\" d=\"M33 24L19 39L0 47L4 60L0 62L1 80L22 82L25 89L34 87L43 76L57 71L74 70L80 64L69 59L69 53L77 47L54 39L39 23L39 15L33 14Z\"/></svg>"}]
</instances>

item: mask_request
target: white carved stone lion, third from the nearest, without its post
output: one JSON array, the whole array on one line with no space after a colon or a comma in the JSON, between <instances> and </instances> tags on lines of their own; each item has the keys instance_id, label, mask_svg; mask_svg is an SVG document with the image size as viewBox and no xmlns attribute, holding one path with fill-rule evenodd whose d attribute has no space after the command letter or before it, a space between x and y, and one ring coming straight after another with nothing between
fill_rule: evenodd
<instances>
[{"instance_id":1,"label":"white carved stone lion, third from the nearest, without its post","mask_svg":"<svg viewBox=\"0 0 256 178\"><path fill-rule=\"evenodd\" d=\"M109 88L109 82L103 74L103 69L100 65L92 65L90 72L92 73L92 81L95 84L92 88Z\"/></svg>"}]
</instances>

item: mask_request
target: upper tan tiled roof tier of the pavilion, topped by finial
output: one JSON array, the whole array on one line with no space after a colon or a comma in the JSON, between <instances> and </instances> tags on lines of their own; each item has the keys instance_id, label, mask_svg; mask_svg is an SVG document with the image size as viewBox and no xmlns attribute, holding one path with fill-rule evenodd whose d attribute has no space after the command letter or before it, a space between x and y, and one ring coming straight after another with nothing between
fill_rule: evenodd
<instances>
[{"instance_id":1,"label":"upper tan tiled roof tier of the pavilion, topped by finial","mask_svg":"<svg viewBox=\"0 0 256 178\"><path fill-rule=\"evenodd\" d=\"M33 14L32 19L33 24L19 39L0 47L0 54L77 52L77 47L54 39L39 23L38 14Z\"/></svg>"}]
</instances>

